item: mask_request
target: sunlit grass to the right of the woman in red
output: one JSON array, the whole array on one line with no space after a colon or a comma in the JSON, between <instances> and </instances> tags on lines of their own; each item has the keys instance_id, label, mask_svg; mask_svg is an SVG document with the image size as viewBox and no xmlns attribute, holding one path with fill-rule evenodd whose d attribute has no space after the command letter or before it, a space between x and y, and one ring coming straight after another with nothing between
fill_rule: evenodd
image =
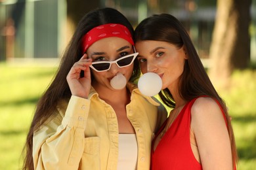
<instances>
[{"instance_id":1,"label":"sunlit grass to the right of the woman in red","mask_svg":"<svg viewBox=\"0 0 256 170\"><path fill-rule=\"evenodd\" d=\"M232 116L239 169L256 169L256 71L235 71L229 90L220 90Z\"/></svg>"}]
</instances>

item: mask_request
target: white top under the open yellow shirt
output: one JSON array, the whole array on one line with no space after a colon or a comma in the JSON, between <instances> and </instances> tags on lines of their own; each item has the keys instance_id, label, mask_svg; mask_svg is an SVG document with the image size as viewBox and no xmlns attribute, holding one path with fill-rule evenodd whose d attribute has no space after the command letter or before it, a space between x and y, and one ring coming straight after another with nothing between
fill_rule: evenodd
<instances>
[{"instance_id":1,"label":"white top under the open yellow shirt","mask_svg":"<svg viewBox=\"0 0 256 170\"><path fill-rule=\"evenodd\" d=\"M138 144L136 134L119 134L118 170L136 170Z\"/></svg>"}]
</instances>

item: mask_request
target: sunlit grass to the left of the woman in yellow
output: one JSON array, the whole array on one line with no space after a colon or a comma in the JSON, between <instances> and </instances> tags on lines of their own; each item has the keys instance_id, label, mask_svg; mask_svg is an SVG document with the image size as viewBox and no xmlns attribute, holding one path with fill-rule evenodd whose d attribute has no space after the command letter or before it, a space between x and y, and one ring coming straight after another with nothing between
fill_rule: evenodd
<instances>
[{"instance_id":1,"label":"sunlit grass to the left of the woman in yellow","mask_svg":"<svg viewBox=\"0 0 256 170\"><path fill-rule=\"evenodd\" d=\"M0 63L0 169L20 168L20 156L35 104L56 67Z\"/></svg>"}]
</instances>

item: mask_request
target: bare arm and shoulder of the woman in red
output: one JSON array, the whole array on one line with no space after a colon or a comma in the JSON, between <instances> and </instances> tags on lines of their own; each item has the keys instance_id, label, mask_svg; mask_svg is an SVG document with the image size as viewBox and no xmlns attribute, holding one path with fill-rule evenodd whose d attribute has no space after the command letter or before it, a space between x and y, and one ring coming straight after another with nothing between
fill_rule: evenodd
<instances>
[{"instance_id":1,"label":"bare arm and shoulder of the woman in red","mask_svg":"<svg viewBox=\"0 0 256 170\"><path fill-rule=\"evenodd\" d=\"M203 169L232 169L228 130L216 101L208 97L195 101L191 109L191 128Z\"/></svg>"}]
</instances>

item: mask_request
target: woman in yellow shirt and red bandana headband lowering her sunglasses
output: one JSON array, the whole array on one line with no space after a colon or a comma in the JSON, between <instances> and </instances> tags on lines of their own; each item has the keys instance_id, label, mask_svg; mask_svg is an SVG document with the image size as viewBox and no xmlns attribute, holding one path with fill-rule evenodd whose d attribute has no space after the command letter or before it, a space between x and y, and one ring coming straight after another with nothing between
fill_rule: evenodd
<instances>
[{"instance_id":1,"label":"woman in yellow shirt and red bandana headband lowering her sunglasses","mask_svg":"<svg viewBox=\"0 0 256 170\"><path fill-rule=\"evenodd\" d=\"M167 117L141 95L133 27L117 10L85 15L43 94L24 169L149 169L151 141Z\"/></svg>"}]
</instances>

